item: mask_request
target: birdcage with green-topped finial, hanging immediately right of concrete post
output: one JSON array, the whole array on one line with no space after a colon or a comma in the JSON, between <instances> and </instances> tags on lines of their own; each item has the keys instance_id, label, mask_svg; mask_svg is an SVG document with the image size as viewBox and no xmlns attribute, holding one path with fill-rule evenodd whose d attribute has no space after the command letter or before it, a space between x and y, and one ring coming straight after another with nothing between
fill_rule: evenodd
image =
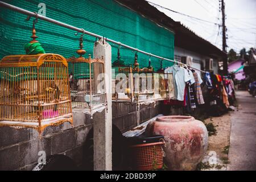
<instances>
[{"instance_id":1,"label":"birdcage with green-topped finial, hanging immediately right of concrete post","mask_svg":"<svg viewBox=\"0 0 256 182\"><path fill-rule=\"evenodd\" d=\"M133 101L133 68L121 60L118 47L117 60L112 65L112 100Z\"/></svg>"}]
</instances>

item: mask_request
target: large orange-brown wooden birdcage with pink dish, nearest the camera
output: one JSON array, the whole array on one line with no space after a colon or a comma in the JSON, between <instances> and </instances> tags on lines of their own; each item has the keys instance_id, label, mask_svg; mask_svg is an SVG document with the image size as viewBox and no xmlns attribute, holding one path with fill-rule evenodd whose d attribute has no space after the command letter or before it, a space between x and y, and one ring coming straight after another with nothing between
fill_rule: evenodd
<instances>
[{"instance_id":1,"label":"large orange-brown wooden birdcage with pink dish, nearest the camera","mask_svg":"<svg viewBox=\"0 0 256 182\"><path fill-rule=\"evenodd\" d=\"M0 126L32 127L72 121L68 63L61 55L11 55L0 61Z\"/></svg>"}]
</instances>

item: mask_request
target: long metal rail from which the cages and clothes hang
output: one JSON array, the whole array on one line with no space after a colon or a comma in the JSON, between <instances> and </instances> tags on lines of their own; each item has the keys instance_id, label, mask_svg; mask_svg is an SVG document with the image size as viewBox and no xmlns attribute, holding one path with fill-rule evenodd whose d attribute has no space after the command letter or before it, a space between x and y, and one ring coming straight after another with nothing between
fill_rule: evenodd
<instances>
[{"instance_id":1,"label":"long metal rail from which the cages and clothes hang","mask_svg":"<svg viewBox=\"0 0 256 182\"><path fill-rule=\"evenodd\" d=\"M92 32L86 31L86 30L84 30L83 28L77 28L77 27L71 26L71 25L69 25L69 24L67 24L67 23L59 22L59 21L57 21L57 20L55 20L55 19L52 19L52 18L47 18L46 16L42 16L42 15L39 15L39 14L37 14L37 13L35 13L35 12L28 11L28 10L24 10L24 9L22 9L22 8L20 8L20 7L10 5L9 3L5 3L5 2L0 1L0 6L1 6L1 7L5 7L6 9L10 9L10 10L16 11L16 12L21 13L21 14L25 14L25 15L28 15L28 16L33 16L33 17L38 18L38 19L45 20L45 21L47 21L47 22L49 22L49 23L54 23L54 24L57 24L57 25L59 25L59 26L65 27L65 28L69 28L69 29L71 29L71 30L75 30L75 31L77 31L77 32L81 32L81 33L83 33L83 34L87 34L87 35L90 35L90 36L94 36L94 37L99 38L99 39L104 38L103 36L100 36L100 35L94 34L94 33L92 33ZM152 54L152 53L148 53L148 52L142 51L142 50L140 50L140 49L138 49L138 48L134 48L134 47L131 47L131 46L127 46L126 44L123 44L123 43L121 43L121 42L117 42L117 41L112 40L112 39L108 39L108 38L104 38L104 39L105 39L106 41L108 41L108 42L112 42L112 43L114 43L114 44L117 44L117 45L119 45L119 46L122 46L122 47L125 47L125 48L128 48L128 49L131 49L131 50L136 51L136 52L141 52L141 53L143 53L143 54L145 54L145 55L148 55L148 56L151 56L151 57L156 57L156 58L159 58L159 59L161 59L161 60L166 60L166 61L171 61L171 62L173 62L173 63L186 65L186 64L181 63L181 62L179 62L179 61L167 59L167 58L165 58L165 57L161 57L161 56L158 56L158 55L154 55L154 54ZM203 71L203 70L196 69L196 68L190 67L190 66L188 66L188 65L186 65L186 66L189 67L189 68L195 69L195 70L197 70L197 71L206 73L206 72Z\"/></svg>"}]
</instances>

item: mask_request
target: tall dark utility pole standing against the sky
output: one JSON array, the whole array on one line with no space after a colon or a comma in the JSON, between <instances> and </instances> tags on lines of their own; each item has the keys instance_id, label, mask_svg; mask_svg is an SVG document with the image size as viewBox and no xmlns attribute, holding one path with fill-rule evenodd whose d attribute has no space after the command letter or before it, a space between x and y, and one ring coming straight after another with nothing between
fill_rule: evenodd
<instances>
[{"instance_id":1,"label":"tall dark utility pole standing against the sky","mask_svg":"<svg viewBox=\"0 0 256 182\"><path fill-rule=\"evenodd\" d=\"M225 3L221 0L221 12L222 12L222 51L226 53L226 26L225 26ZM228 75L228 56L225 56L223 60L223 75Z\"/></svg>"}]
</instances>

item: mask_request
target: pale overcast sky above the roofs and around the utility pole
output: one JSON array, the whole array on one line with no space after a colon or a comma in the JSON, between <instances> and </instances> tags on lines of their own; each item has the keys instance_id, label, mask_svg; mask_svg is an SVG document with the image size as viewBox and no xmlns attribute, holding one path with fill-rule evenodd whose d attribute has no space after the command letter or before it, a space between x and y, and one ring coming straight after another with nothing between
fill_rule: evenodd
<instances>
[{"instance_id":1,"label":"pale overcast sky above the roofs and around the utility pole","mask_svg":"<svg viewBox=\"0 0 256 182\"><path fill-rule=\"evenodd\" d=\"M166 15L180 21L197 35L222 49L222 30L214 24L222 23L218 0L147 0L183 14L207 20L207 23L157 7ZM228 51L255 47L256 39L256 0L224 0L226 27L228 28ZM153 5L154 6L154 5ZM214 23L213 23L214 22Z\"/></svg>"}]
</instances>

